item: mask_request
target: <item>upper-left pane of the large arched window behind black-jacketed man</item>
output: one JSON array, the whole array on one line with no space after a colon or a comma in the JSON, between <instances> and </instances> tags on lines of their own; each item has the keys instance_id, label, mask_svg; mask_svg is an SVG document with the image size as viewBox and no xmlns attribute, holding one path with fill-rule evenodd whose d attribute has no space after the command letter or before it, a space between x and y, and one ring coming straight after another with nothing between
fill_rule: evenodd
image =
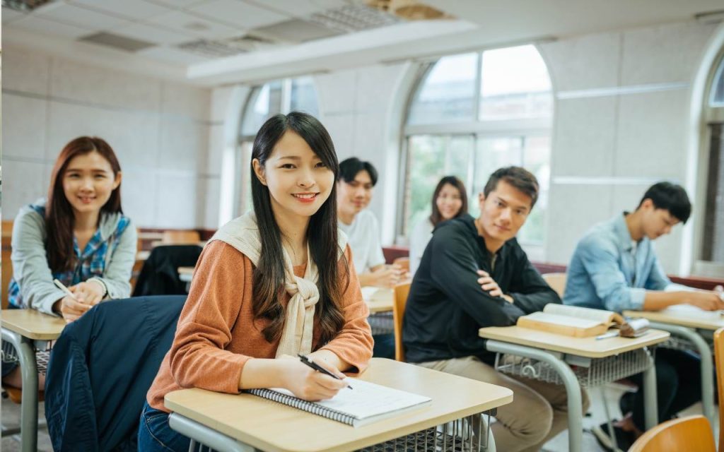
<instances>
[{"instance_id":1,"label":"upper-left pane of the large arched window behind black-jacketed man","mask_svg":"<svg viewBox=\"0 0 724 452\"><path fill-rule=\"evenodd\" d=\"M478 54L439 59L421 84L408 124L473 121Z\"/></svg>"}]
</instances>

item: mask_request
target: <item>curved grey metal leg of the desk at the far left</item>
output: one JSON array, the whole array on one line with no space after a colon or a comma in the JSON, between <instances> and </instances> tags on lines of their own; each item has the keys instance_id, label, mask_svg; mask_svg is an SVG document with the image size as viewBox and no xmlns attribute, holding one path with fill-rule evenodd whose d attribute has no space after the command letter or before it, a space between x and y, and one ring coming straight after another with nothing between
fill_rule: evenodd
<instances>
[{"instance_id":1,"label":"curved grey metal leg of the desk at the far left","mask_svg":"<svg viewBox=\"0 0 724 452\"><path fill-rule=\"evenodd\" d=\"M20 404L20 440L22 452L38 450L38 365L33 341L2 329L2 338L15 347L20 359L22 399Z\"/></svg>"}]
</instances>

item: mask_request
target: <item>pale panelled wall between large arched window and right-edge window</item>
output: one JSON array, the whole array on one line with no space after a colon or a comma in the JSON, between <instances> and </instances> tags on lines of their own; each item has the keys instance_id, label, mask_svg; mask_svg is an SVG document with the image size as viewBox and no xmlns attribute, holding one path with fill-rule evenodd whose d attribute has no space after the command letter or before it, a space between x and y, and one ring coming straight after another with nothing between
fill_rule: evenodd
<instances>
[{"instance_id":1,"label":"pale panelled wall between large arched window and right-edge window","mask_svg":"<svg viewBox=\"0 0 724 452\"><path fill-rule=\"evenodd\" d=\"M652 183L688 184L691 88L714 30L679 23L539 46L556 93L547 260L567 264L586 229L636 208ZM668 272L682 235L656 242Z\"/></svg>"}]
</instances>

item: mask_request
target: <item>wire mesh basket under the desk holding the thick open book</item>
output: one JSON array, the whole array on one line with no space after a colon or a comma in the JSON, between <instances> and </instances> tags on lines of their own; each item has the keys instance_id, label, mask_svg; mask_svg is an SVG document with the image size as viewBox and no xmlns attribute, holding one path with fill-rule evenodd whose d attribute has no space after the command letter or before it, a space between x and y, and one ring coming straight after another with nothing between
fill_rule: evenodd
<instances>
[{"instance_id":1,"label":"wire mesh basket under the desk holding the thick open book","mask_svg":"<svg viewBox=\"0 0 724 452\"><path fill-rule=\"evenodd\" d=\"M581 386L592 388L644 372L652 364L653 355L654 349L644 348L612 357L576 359L577 364L571 364L571 370ZM495 357L495 369L508 375L563 385L563 379L552 367L536 359L498 353Z\"/></svg>"}]
</instances>

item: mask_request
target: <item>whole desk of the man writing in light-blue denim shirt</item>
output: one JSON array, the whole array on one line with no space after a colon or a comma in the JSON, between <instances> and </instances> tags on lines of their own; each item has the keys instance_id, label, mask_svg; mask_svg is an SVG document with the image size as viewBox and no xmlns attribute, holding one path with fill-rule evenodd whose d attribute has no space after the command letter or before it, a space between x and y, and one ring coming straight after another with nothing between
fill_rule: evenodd
<instances>
[{"instance_id":1,"label":"whole desk of the man writing in light-blue denim shirt","mask_svg":"<svg viewBox=\"0 0 724 452\"><path fill-rule=\"evenodd\" d=\"M696 314L687 315L686 312L665 311L623 311L623 315L648 319L653 328L668 331L674 338L683 339L683 341L679 341L683 344L675 344L675 341L670 341L663 346L689 349L699 354L702 373L702 411L709 422L715 425L714 360L710 343L714 331L724 327L724 317L721 315L696 316ZM707 339L709 339L708 342Z\"/></svg>"}]
</instances>

